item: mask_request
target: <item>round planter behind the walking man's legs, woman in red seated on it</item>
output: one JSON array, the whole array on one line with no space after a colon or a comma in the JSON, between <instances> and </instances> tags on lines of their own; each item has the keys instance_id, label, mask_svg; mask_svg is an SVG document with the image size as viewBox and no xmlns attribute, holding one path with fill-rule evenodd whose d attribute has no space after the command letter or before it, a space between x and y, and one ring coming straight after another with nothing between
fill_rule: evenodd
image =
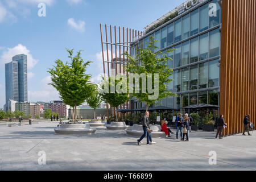
<instances>
[{"instance_id":1,"label":"round planter behind the walking man's legs, woman in red seated on it","mask_svg":"<svg viewBox=\"0 0 256 182\"><path fill-rule=\"evenodd\" d=\"M166 136L166 133L161 131L160 125L150 125L150 130L153 130L151 132L151 137L153 137L153 138ZM141 137L141 135L143 135L144 131L143 131L142 125L133 125L131 127L131 129L126 130L126 133L127 133L127 135Z\"/></svg>"}]
</instances>

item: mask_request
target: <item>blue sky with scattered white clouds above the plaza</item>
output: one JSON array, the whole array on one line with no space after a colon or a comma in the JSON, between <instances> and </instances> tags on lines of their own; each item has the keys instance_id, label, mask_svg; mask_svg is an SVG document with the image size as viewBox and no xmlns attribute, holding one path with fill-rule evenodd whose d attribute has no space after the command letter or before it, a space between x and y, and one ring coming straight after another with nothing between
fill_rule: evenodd
<instances>
[{"instance_id":1,"label":"blue sky with scattered white clouds above the plaza","mask_svg":"<svg viewBox=\"0 0 256 182\"><path fill-rule=\"evenodd\" d=\"M5 104L5 63L28 56L28 101L59 100L47 72L56 59L69 61L65 48L83 50L93 61L93 82L103 72L100 23L134 30L143 28L184 0L0 0L0 108ZM46 16L39 16L39 3Z\"/></svg>"}]
</instances>

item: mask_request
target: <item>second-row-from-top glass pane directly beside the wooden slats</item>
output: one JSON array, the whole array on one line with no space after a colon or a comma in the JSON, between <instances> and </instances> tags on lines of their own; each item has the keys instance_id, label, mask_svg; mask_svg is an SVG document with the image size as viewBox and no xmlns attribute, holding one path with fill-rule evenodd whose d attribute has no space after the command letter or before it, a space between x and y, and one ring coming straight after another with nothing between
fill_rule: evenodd
<instances>
[{"instance_id":1,"label":"second-row-from-top glass pane directly beside the wooden slats","mask_svg":"<svg viewBox=\"0 0 256 182\"><path fill-rule=\"evenodd\" d=\"M209 57L220 55L220 32L218 28L210 31Z\"/></svg>"}]
</instances>

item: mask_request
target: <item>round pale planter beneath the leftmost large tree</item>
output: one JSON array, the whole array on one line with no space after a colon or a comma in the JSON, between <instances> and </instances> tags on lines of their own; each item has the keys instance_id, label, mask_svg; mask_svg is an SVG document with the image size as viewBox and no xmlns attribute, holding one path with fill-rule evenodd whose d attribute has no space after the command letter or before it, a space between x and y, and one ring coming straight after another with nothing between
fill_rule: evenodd
<instances>
[{"instance_id":1,"label":"round pale planter beneath the leftmost large tree","mask_svg":"<svg viewBox=\"0 0 256 182\"><path fill-rule=\"evenodd\" d=\"M59 127L54 129L56 134L94 134L96 129L91 129L89 124L61 124Z\"/></svg>"}]
</instances>

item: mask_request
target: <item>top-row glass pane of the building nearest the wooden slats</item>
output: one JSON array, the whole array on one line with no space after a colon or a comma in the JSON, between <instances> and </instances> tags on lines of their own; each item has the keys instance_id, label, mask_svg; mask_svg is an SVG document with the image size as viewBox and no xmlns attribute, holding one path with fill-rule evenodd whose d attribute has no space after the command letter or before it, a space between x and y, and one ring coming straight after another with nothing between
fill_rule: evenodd
<instances>
[{"instance_id":1,"label":"top-row glass pane of the building nearest the wooden slats","mask_svg":"<svg viewBox=\"0 0 256 182\"><path fill-rule=\"evenodd\" d=\"M212 6L212 3L215 5ZM210 28L217 26L220 24L220 5L218 4L217 0L210 1L210 14L213 14L210 16ZM217 7L217 9L215 9ZM215 10L215 11L214 11ZM214 16L216 14L216 16Z\"/></svg>"}]
</instances>

